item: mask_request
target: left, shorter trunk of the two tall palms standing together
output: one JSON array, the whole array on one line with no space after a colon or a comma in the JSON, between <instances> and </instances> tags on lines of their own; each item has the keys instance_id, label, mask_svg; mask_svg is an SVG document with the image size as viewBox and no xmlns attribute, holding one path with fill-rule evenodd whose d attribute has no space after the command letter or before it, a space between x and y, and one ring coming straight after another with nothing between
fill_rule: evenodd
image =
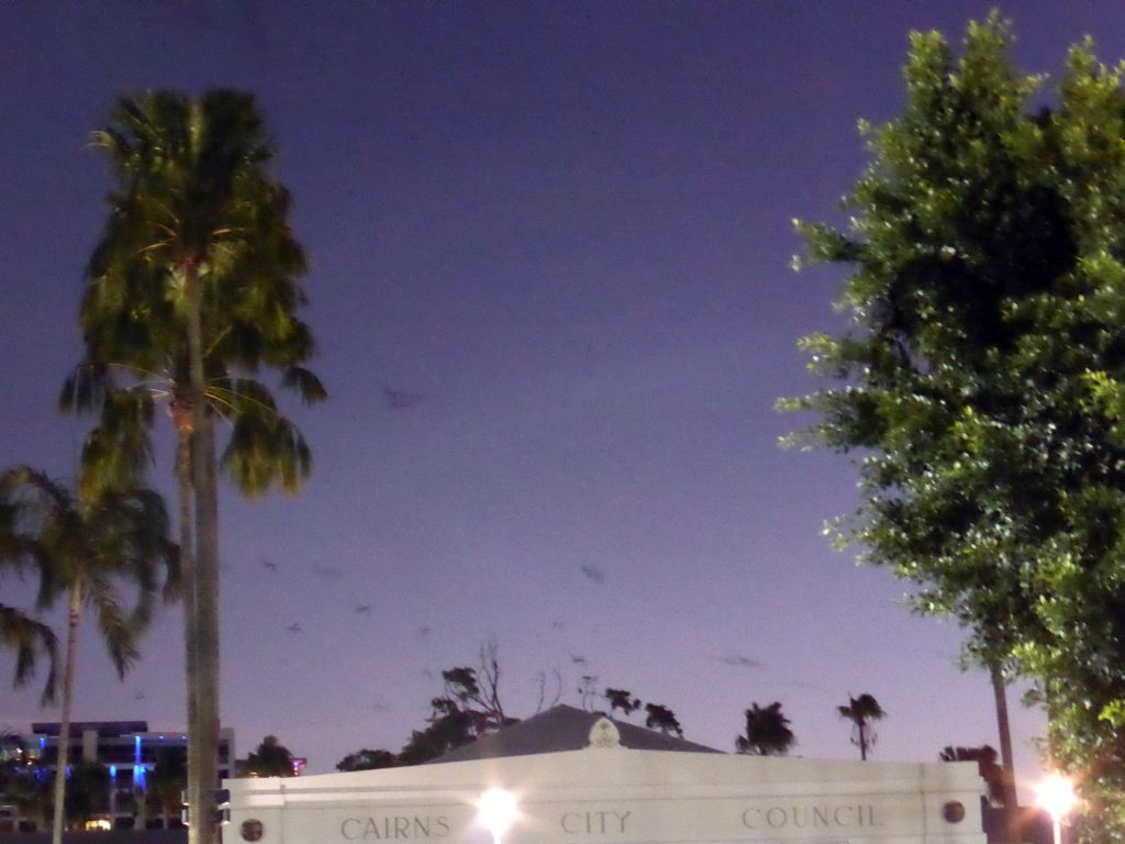
<instances>
[{"instance_id":1,"label":"left, shorter trunk of the two tall palms standing together","mask_svg":"<svg viewBox=\"0 0 1125 844\"><path fill-rule=\"evenodd\" d=\"M177 424L176 483L180 505L180 576L183 584L183 650L184 680L188 709L188 806L199 806L200 789L204 788L202 767L197 742L199 720L198 703L198 648L196 647L196 547L195 547L195 488L191 484L191 419L190 408L173 407ZM142 797L143 798L143 792ZM163 817L168 827L166 812ZM189 832L189 836L191 833Z\"/></svg>"}]
</instances>

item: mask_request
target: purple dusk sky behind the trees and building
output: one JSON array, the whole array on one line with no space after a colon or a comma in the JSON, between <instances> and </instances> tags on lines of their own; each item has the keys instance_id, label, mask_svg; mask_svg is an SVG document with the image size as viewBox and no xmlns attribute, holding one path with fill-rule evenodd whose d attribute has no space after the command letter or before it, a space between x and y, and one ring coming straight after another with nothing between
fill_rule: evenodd
<instances>
[{"instance_id":1,"label":"purple dusk sky behind the trees and building","mask_svg":"<svg viewBox=\"0 0 1125 844\"><path fill-rule=\"evenodd\" d=\"M1029 72L1058 78L1086 34L1125 56L1119 2L1001 8ZM842 329L840 271L790 269L792 218L837 218L866 160L857 118L901 106L909 30L960 42L988 9L9 0L0 467L71 477L89 427L55 398L110 188L90 131L118 95L245 89L295 197L331 399L286 406L315 455L299 496L223 494L240 755L267 733L313 772L397 751L440 671L493 637L518 717L557 670L560 702L595 675L720 749L777 700L798 754L857 757L837 707L862 692L889 713L876 760L997 745L956 625L910 614L902 584L822 536L856 506L848 459L782 450L802 420L773 410L816 386L798 339ZM171 492L168 458L152 477ZM87 628L75 718L181 727L181 626L165 612L124 683ZM0 725L57 719L9 690L11 664ZM1019 692L1033 778L1042 717Z\"/></svg>"}]
</instances>

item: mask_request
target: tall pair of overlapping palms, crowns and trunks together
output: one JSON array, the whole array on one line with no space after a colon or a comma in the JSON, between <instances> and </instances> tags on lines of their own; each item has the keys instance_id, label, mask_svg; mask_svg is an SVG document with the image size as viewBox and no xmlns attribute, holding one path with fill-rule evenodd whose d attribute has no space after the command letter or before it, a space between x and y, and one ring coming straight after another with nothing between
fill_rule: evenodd
<instances>
[{"instance_id":1,"label":"tall pair of overlapping palms, crowns and trunks together","mask_svg":"<svg viewBox=\"0 0 1125 844\"><path fill-rule=\"evenodd\" d=\"M87 272L81 324L87 359L64 405L100 405L88 455L135 476L147 463L153 392L170 397L184 571L188 781L192 809L214 815L218 748L218 505L214 422L232 423L223 464L243 492L295 491L309 469L299 432L251 377L281 370L306 402L325 397L302 363L312 357L305 271L288 226L289 195L272 180L272 151L253 98L160 91L123 99L94 133L117 177L110 215ZM127 374L130 388L111 376ZM205 783L209 783L205 788ZM192 824L191 844L213 841Z\"/></svg>"}]
</instances>

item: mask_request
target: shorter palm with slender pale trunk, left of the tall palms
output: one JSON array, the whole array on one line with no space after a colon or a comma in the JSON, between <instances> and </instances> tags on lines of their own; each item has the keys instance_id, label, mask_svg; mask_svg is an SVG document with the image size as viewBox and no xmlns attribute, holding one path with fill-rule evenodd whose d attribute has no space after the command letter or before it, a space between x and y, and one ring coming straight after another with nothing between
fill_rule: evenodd
<instances>
[{"instance_id":1,"label":"shorter palm with slender pale trunk, left of the tall palms","mask_svg":"<svg viewBox=\"0 0 1125 844\"><path fill-rule=\"evenodd\" d=\"M55 765L53 844L61 844L65 817L66 764L74 671L82 613L90 608L120 676L137 658L136 635L148 623L160 591L160 568L168 572L165 598L177 584L176 550L168 540L168 515L160 495L143 487L102 490L90 499L73 495L40 472L18 466L0 475L4 520L0 549L11 565L39 566L40 608L68 599L58 758ZM122 585L135 590L130 608Z\"/></svg>"}]
</instances>

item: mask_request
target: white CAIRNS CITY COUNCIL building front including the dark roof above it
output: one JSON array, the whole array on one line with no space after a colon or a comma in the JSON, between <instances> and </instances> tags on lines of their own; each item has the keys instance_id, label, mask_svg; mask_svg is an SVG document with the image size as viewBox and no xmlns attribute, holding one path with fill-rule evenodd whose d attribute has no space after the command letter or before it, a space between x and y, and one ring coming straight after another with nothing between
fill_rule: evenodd
<instances>
[{"instance_id":1,"label":"white CAIRNS CITY COUNCIL building front including the dark roof above it","mask_svg":"<svg viewBox=\"0 0 1125 844\"><path fill-rule=\"evenodd\" d=\"M577 726L584 727L583 746L569 749ZM430 764L299 780L230 780L232 823L224 841L986 842L974 763L741 756L642 734L657 735L558 708ZM515 818L506 829L490 829L478 810L482 796L493 789L515 799Z\"/></svg>"}]
</instances>

